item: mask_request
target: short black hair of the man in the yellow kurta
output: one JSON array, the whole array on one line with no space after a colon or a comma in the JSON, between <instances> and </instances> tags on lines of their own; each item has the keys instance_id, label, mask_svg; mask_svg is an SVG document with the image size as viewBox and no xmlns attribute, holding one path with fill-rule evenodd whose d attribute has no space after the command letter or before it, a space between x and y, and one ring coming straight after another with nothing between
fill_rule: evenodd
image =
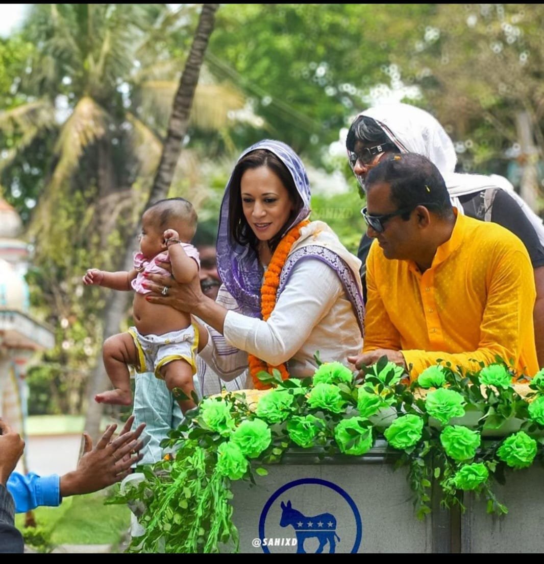
<instances>
[{"instance_id":1,"label":"short black hair of the man in the yellow kurta","mask_svg":"<svg viewBox=\"0 0 544 564\"><path fill-rule=\"evenodd\" d=\"M432 162L416 153L390 155L369 171L365 190L373 184L385 182L391 187L391 200L398 209L412 210L425 205L442 219L453 218L448 188L440 171ZM408 219L409 213L401 216Z\"/></svg>"}]
</instances>

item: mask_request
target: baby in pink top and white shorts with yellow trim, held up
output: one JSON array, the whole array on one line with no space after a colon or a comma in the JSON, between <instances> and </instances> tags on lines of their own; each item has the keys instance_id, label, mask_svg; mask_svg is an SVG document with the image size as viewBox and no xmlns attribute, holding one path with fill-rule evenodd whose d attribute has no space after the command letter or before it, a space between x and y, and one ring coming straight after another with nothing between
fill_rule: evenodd
<instances>
[{"instance_id":1,"label":"baby in pink top and white shorts with yellow trim, held up","mask_svg":"<svg viewBox=\"0 0 544 564\"><path fill-rule=\"evenodd\" d=\"M189 241L197 228L197 213L183 198L160 200L142 215L140 252L134 268L128 272L106 272L90 268L83 284L97 284L113 290L136 290L132 305L135 327L104 341L104 366L114 390L96 394L99 403L130 405L132 393L128 365L136 372L154 372L164 378L170 391L180 388L189 398L194 390L197 371L195 354L198 331L190 314L173 307L153 304L145 299L146 274L157 272L170 276L155 261L170 261L177 281L188 282L198 276L197 249ZM164 292L167 292L165 288ZM178 400L182 412L194 407L192 400Z\"/></svg>"}]
</instances>

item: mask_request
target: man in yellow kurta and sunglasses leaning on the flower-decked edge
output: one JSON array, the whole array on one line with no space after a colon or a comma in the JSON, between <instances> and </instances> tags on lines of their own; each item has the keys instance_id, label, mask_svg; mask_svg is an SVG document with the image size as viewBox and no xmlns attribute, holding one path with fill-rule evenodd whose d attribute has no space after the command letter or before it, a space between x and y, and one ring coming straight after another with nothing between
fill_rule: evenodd
<instances>
[{"instance_id":1,"label":"man in yellow kurta and sunglasses leaning on the flower-decked edge","mask_svg":"<svg viewBox=\"0 0 544 564\"><path fill-rule=\"evenodd\" d=\"M452 208L438 169L414 154L382 159L366 179L368 301L357 368L383 355L411 378L439 360L478 371L500 356L538 371L534 277L525 246Z\"/></svg>"}]
</instances>

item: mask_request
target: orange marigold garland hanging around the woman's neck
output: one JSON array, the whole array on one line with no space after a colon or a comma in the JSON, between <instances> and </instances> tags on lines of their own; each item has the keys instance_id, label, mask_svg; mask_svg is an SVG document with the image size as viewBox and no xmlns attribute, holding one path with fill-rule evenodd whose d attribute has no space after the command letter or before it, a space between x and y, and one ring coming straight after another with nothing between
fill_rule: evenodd
<instances>
[{"instance_id":1,"label":"orange marigold garland hanging around the woman's neck","mask_svg":"<svg viewBox=\"0 0 544 564\"><path fill-rule=\"evenodd\" d=\"M292 227L286 235L282 237L282 240L279 242L272 258L270 259L270 264L265 272L265 280L262 283L261 287L261 314L262 319L265 321L268 320L272 311L274 310L274 306L276 305L276 295L278 293L279 288L279 277L282 273L282 268L285 265L287 257L289 255L289 251L291 251L291 247L295 244L300 237L300 230L302 227L305 227L310 222L305 219ZM269 374L272 373L273 369L279 370L280 374L282 374L282 380L287 380L289 377L289 372L287 371L287 366L285 363L280 364L279 366L273 366L264 362L257 356L248 354L248 361L249 361L249 374L251 374L251 378L253 380L253 385L257 390L267 390L270 385L264 384L257 378L257 374L261 371L268 372Z\"/></svg>"}]
</instances>

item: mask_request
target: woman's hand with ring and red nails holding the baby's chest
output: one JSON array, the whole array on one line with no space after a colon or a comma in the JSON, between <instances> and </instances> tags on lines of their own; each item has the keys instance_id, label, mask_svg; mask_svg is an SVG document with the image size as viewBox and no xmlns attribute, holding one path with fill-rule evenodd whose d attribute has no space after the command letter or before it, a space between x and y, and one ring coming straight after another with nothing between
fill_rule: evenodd
<instances>
[{"instance_id":1,"label":"woman's hand with ring and red nails holding the baby's chest","mask_svg":"<svg viewBox=\"0 0 544 564\"><path fill-rule=\"evenodd\" d=\"M157 262L159 266L165 268L166 263ZM159 274L148 274L144 283L144 288L151 290L145 299L151 303L160 303L164 306L171 306L176 310L198 316L199 307L206 300L209 300L200 289L198 274L186 284L177 282L172 277L160 276Z\"/></svg>"}]
</instances>

